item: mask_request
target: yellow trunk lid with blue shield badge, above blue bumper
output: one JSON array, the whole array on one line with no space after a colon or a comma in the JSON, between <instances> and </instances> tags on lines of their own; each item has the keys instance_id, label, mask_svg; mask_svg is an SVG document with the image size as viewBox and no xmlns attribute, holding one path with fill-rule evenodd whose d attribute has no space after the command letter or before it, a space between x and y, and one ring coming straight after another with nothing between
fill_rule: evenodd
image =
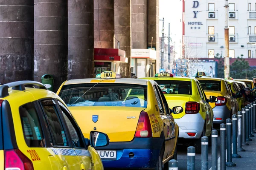
<instances>
[{"instance_id":1,"label":"yellow trunk lid with blue shield badge, above blue bumper","mask_svg":"<svg viewBox=\"0 0 256 170\"><path fill-rule=\"evenodd\" d=\"M134 139L141 111L145 108L83 106L70 107L85 138L90 131L106 133L110 142L128 142Z\"/></svg>"}]
</instances>

